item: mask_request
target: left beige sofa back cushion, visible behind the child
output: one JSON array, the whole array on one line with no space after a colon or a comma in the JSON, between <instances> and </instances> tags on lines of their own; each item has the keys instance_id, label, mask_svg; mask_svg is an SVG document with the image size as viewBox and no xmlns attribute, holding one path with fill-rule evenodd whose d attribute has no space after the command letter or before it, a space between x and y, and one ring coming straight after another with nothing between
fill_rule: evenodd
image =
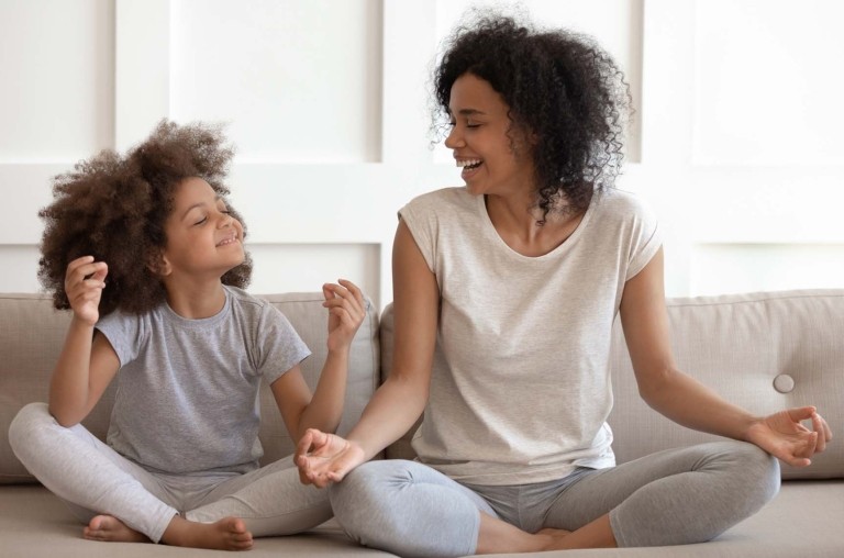
<instances>
[{"instance_id":1,"label":"left beige sofa back cushion, visible behind the child","mask_svg":"<svg viewBox=\"0 0 844 558\"><path fill-rule=\"evenodd\" d=\"M320 292L267 294L284 313L312 355L301 365L313 390L327 351L327 312ZM32 401L46 401L53 367L65 337L68 312L53 309L45 294L0 294L0 484L33 482L34 479L9 447L9 424ZM352 345L346 405L338 432L347 432L360 416L379 381L378 312L369 304L367 316ZM114 382L112 382L114 383ZM82 422L104 439L114 400L112 384L97 408ZM293 442L285 428L268 386L260 394L263 462L292 454Z\"/></svg>"}]
</instances>

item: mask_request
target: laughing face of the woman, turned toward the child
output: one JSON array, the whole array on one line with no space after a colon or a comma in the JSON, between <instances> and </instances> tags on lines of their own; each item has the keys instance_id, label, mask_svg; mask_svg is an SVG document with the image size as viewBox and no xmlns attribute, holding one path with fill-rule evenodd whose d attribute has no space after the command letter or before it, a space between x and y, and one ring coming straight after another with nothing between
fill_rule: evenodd
<instances>
[{"instance_id":1,"label":"laughing face of the woman, turned toward the child","mask_svg":"<svg viewBox=\"0 0 844 558\"><path fill-rule=\"evenodd\" d=\"M509 110L492 86L473 74L452 85L452 132L445 146L454 150L460 177L474 194L534 190L531 146L526 134L513 126Z\"/></svg>"}]
</instances>

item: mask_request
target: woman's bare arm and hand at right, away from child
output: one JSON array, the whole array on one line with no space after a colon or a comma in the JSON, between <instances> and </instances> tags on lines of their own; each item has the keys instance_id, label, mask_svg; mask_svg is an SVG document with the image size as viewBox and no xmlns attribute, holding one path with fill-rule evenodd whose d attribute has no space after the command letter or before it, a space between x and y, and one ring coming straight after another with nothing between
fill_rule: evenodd
<instances>
[{"instance_id":1,"label":"woman's bare arm and hand at right, away from child","mask_svg":"<svg viewBox=\"0 0 844 558\"><path fill-rule=\"evenodd\" d=\"M814 408L755 416L677 369L669 346L663 250L624 286L621 323L642 399L689 428L752 442L789 465L809 465L832 437ZM800 424L812 420L813 429Z\"/></svg>"}]
</instances>

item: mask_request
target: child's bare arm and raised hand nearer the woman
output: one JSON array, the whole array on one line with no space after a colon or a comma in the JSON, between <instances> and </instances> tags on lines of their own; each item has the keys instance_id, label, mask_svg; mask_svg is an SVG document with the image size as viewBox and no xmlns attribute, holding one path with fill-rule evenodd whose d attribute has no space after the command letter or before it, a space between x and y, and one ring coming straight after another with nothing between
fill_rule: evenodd
<instances>
[{"instance_id":1,"label":"child's bare arm and raised hand nearer the woman","mask_svg":"<svg viewBox=\"0 0 844 558\"><path fill-rule=\"evenodd\" d=\"M366 316L360 289L341 279L324 284L323 306L329 309L329 354L311 397L299 366L273 382L273 395L290 436L298 440L308 428L334 432L343 416L348 376L348 353L355 333Z\"/></svg>"}]
</instances>

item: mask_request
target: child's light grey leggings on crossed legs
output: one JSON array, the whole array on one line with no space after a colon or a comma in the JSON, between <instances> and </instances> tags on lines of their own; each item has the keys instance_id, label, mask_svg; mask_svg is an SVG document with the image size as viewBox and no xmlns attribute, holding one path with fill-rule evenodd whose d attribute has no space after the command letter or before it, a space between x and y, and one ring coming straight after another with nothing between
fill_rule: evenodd
<instances>
[{"instance_id":1,"label":"child's light grey leggings on crossed legs","mask_svg":"<svg viewBox=\"0 0 844 558\"><path fill-rule=\"evenodd\" d=\"M325 491L302 484L291 458L245 475L153 473L82 425L59 425L44 403L18 413L9 442L26 469L81 521L113 515L156 543L177 513L200 523L240 517L256 537L299 533L332 515Z\"/></svg>"}]
</instances>

